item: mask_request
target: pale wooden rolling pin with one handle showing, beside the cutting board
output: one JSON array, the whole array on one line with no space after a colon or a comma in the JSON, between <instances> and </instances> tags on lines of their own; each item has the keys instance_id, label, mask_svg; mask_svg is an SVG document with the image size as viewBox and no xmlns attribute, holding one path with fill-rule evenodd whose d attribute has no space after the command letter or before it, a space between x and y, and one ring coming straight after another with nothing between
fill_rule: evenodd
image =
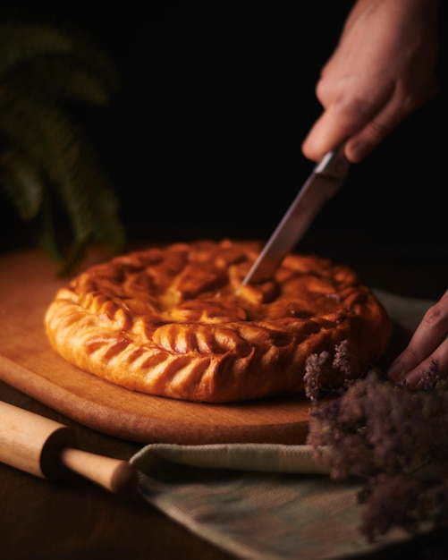
<instances>
[{"instance_id":1,"label":"pale wooden rolling pin with one handle showing, beside the cutting board","mask_svg":"<svg viewBox=\"0 0 448 560\"><path fill-rule=\"evenodd\" d=\"M46 479L61 478L69 469L119 494L137 488L130 462L81 451L72 428L2 402L0 462Z\"/></svg>"}]
</instances>

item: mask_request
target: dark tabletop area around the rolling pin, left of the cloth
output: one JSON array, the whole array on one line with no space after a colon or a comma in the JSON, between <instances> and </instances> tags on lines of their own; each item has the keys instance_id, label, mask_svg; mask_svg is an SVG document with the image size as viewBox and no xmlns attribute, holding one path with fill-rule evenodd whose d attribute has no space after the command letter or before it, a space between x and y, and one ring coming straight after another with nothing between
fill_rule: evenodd
<instances>
[{"instance_id":1,"label":"dark tabletop area around the rolling pin, left of the cloth","mask_svg":"<svg viewBox=\"0 0 448 560\"><path fill-rule=\"evenodd\" d=\"M90 453L128 460L141 448L81 426L1 380L0 399L66 424ZM76 474L48 480L0 463L0 480L1 560L233 558L147 502L111 494Z\"/></svg>"}]
</instances>

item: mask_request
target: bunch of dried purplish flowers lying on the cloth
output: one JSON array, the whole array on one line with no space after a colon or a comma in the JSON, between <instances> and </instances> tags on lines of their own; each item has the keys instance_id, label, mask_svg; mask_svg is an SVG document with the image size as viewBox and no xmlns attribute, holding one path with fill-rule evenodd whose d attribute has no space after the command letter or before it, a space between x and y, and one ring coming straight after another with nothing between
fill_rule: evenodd
<instances>
[{"instance_id":1,"label":"bunch of dried purplish flowers lying on the cloth","mask_svg":"<svg viewBox=\"0 0 448 560\"><path fill-rule=\"evenodd\" d=\"M433 361L424 389L394 384L376 369L319 400L329 367L350 378L349 346L313 354L307 362L311 400L307 443L334 479L359 477L364 505L361 533L368 539L393 527L418 532L427 522L448 524L448 380ZM324 451L330 449L330 453Z\"/></svg>"}]
</instances>

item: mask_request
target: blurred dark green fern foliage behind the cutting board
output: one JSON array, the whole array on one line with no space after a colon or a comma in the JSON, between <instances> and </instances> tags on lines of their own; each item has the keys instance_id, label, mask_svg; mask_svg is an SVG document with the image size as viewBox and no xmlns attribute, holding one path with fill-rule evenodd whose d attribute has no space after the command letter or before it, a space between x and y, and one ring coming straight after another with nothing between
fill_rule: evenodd
<instances>
[{"instance_id":1,"label":"blurred dark green fern foliage behind the cutting board","mask_svg":"<svg viewBox=\"0 0 448 560\"><path fill-rule=\"evenodd\" d=\"M76 267L92 241L123 247L118 201L63 101L104 106L118 72L88 38L38 22L0 22L0 191L38 242Z\"/></svg>"}]
</instances>

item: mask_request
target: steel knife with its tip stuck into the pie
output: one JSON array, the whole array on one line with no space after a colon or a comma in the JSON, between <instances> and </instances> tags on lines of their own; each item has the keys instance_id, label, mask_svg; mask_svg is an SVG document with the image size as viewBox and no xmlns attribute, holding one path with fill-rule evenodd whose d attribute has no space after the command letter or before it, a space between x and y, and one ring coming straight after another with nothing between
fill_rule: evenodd
<instances>
[{"instance_id":1,"label":"steel knife with its tip stuck into the pie","mask_svg":"<svg viewBox=\"0 0 448 560\"><path fill-rule=\"evenodd\" d=\"M342 144L327 152L315 166L242 284L257 284L274 276L277 267L300 241L319 210L339 191L350 169L343 148Z\"/></svg>"}]
</instances>

